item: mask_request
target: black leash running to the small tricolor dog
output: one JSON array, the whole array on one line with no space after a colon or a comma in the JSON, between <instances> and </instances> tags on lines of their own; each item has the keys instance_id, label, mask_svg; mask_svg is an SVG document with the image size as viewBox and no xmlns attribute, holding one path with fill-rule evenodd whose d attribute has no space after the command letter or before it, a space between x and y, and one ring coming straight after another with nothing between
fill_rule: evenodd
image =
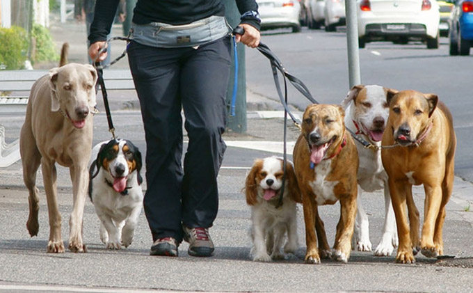
<instances>
[{"instance_id":1,"label":"black leash running to the small tricolor dog","mask_svg":"<svg viewBox=\"0 0 473 293\"><path fill-rule=\"evenodd\" d=\"M128 37L127 38L125 38L125 37L113 37L113 38L110 38L109 40L106 40L106 44L108 45L109 42L111 42L113 40L126 40L127 41L127 47L125 47L125 50L123 51L123 53L120 56L118 56L118 58L115 58L113 61L111 61L111 63L109 63L109 64L102 65L101 62L98 62L97 59L95 59L95 61L93 62L93 65L95 67L95 70L97 70L97 84L95 85L95 93L98 92L98 87L100 86L100 89L102 90L102 97L104 98L104 107L105 107L105 113L106 113L106 120L107 120L107 122L109 122L109 132L111 132L112 137L114 139L116 139L115 127L113 127L113 120L112 120L110 106L109 106L109 95L106 93L106 88L105 88L104 69L109 68L111 65L117 63L121 58L123 58L123 57L125 57L125 55L127 55L127 49L128 49L130 39ZM102 49L99 49L99 53L97 54L97 58L98 58L98 56L100 56L100 54L102 54L103 52L106 52L106 48L107 48L107 46L103 47Z\"/></svg>"}]
</instances>

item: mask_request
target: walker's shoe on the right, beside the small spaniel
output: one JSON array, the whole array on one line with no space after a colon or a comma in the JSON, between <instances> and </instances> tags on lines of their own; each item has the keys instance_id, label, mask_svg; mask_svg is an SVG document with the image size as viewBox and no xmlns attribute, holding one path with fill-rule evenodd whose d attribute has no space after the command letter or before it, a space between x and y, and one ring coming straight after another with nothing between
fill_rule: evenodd
<instances>
[{"instance_id":1,"label":"walker's shoe on the right, beside the small spaniel","mask_svg":"<svg viewBox=\"0 0 473 293\"><path fill-rule=\"evenodd\" d=\"M211 256L214 255L214 242L209 235L207 228L187 228L182 226L184 230L184 240L189 242L189 250L187 253L191 256Z\"/></svg>"}]
</instances>

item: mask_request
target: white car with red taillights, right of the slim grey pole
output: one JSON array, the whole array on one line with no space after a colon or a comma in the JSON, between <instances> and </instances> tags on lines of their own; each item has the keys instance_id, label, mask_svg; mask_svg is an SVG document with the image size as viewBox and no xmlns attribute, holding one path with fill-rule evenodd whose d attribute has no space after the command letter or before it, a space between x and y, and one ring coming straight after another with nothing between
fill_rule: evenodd
<instances>
[{"instance_id":1,"label":"white car with red taillights, right of the slim grey pole","mask_svg":"<svg viewBox=\"0 0 473 293\"><path fill-rule=\"evenodd\" d=\"M439 5L435 0L358 0L358 42L391 41L407 44L426 42L438 49Z\"/></svg>"}]
</instances>

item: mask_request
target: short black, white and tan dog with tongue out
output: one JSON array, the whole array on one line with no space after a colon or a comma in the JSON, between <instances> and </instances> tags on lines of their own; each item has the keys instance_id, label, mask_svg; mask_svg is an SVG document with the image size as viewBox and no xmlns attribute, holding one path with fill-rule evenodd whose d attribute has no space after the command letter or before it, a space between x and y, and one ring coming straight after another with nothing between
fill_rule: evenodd
<instances>
[{"instance_id":1,"label":"short black, white and tan dog with tongue out","mask_svg":"<svg viewBox=\"0 0 473 293\"><path fill-rule=\"evenodd\" d=\"M128 247L143 208L141 152L131 141L95 145L90 160L89 196L100 219L106 248Z\"/></svg>"}]
</instances>

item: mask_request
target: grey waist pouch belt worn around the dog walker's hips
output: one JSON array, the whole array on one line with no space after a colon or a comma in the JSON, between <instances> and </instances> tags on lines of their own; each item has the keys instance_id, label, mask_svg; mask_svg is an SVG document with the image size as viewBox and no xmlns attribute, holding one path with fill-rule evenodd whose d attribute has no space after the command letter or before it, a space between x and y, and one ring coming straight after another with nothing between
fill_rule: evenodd
<instances>
[{"instance_id":1,"label":"grey waist pouch belt worn around the dog walker's hips","mask_svg":"<svg viewBox=\"0 0 473 293\"><path fill-rule=\"evenodd\" d=\"M131 24L131 38L135 42L160 48L195 47L221 39L228 33L225 17L215 15L177 26L161 22Z\"/></svg>"}]
</instances>

